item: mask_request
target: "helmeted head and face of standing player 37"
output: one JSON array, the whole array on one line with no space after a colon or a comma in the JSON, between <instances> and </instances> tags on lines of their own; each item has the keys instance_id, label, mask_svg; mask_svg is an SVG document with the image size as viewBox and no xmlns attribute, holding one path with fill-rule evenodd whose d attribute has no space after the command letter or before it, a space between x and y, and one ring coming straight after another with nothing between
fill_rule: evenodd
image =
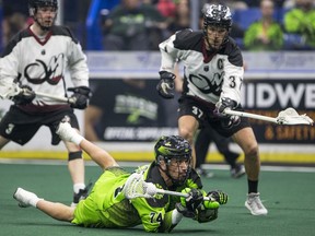
<instances>
[{"instance_id":1,"label":"helmeted head and face of standing player 37","mask_svg":"<svg viewBox=\"0 0 315 236\"><path fill-rule=\"evenodd\" d=\"M229 40L232 27L232 14L222 4L207 4L202 9L203 35L210 49L219 50Z\"/></svg>"}]
</instances>

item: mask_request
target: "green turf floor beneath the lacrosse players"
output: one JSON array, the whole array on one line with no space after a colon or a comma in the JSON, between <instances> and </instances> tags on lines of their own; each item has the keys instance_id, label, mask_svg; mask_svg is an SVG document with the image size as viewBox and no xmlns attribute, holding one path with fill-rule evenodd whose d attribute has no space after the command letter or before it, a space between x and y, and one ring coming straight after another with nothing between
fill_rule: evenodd
<instances>
[{"instance_id":1,"label":"green turf floor beneath the lacrosse players","mask_svg":"<svg viewBox=\"0 0 315 236\"><path fill-rule=\"evenodd\" d=\"M132 169L132 168L128 168ZM265 168L264 168L265 169ZM214 169L214 177L203 179L206 190L222 189L230 200L221 206L219 219L199 224L185 219L172 235L315 235L315 170L261 170L259 190L269 210L267 216L253 216L244 206L246 177L232 179L226 169ZM86 166L86 181L101 174ZM84 228L58 222L34 208L21 209L12 194L16 187L34 191L38 197L70 204L72 189L66 165L0 164L0 235L147 235L141 226L128 229Z\"/></svg>"}]
</instances>

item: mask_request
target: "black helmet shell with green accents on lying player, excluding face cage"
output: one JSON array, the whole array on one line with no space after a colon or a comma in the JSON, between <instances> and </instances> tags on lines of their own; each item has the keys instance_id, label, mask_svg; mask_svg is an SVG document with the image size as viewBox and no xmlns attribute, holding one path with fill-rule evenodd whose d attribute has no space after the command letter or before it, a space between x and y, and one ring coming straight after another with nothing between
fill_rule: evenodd
<instances>
[{"instance_id":1,"label":"black helmet shell with green accents on lying player, excluding face cage","mask_svg":"<svg viewBox=\"0 0 315 236\"><path fill-rule=\"evenodd\" d=\"M160 164L160 161L162 160L166 164L172 158L191 160L190 144L179 135L161 137L154 146L154 152L158 164Z\"/></svg>"}]
</instances>

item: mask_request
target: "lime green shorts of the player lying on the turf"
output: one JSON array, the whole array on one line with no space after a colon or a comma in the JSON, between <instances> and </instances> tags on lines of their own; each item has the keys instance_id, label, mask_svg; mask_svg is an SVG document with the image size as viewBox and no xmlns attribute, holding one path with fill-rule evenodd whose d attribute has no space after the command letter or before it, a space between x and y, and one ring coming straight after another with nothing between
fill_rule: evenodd
<instances>
[{"instance_id":1,"label":"lime green shorts of the player lying on the turf","mask_svg":"<svg viewBox=\"0 0 315 236\"><path fill-rule=\"evenodd\" d=\"M85 227L131 227L141 224L139 213L121 192L130 173L109 167L95 182L91 193L81 200L71 223Z\"/></svg>"}]
</instances>

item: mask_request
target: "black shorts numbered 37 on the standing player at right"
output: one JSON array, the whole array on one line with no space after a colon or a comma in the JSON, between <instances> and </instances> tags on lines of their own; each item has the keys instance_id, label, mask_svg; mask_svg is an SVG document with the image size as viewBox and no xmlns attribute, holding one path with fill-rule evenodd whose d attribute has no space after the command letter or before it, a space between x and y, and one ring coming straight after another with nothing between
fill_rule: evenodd
<instances>
[{"instance_id":1,"label":"black shorts numbered 37 on the standing player at right","mask_svg":"<svg viewBox=\"0 0 315 236\"><path fill-rule=\"evenodd\" d=\"M178 118L187 115L194 116L199 121L200 129L202 129L205 122L208 122L221 135L229 138L238 130L250 127L248 119L242 117L240 125L226 129L224 126L222 126L222 118L213 115L213 110L215 108L214 104L206 103L190 96L182 96L178 102ZM237 107L236 110L243 110L242 106Z\"/></svg>"}]
</instances>

